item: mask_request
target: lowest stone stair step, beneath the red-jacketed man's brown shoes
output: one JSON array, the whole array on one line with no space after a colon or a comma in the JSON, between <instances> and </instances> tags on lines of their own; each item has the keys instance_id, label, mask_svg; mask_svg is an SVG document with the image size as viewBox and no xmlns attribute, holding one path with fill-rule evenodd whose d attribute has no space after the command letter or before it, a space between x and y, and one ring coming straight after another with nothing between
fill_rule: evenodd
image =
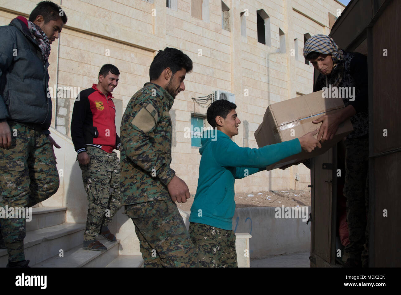
<instances>
[{"instance_id":1,"label":"lowest stone stair step, beneath the red-jacketed man's brown shoes","mask_svg":"<svg viewBox=\"0 0 401 295\"><path fill-rule=\"evenodd\" d=\"M109 242L104 238L99 241L107 247L107 251L85 250L83 244L64 252L64 256L53 256L32 267L105 267L118 256L119 240Z\"/></svg>"}]
</instances>

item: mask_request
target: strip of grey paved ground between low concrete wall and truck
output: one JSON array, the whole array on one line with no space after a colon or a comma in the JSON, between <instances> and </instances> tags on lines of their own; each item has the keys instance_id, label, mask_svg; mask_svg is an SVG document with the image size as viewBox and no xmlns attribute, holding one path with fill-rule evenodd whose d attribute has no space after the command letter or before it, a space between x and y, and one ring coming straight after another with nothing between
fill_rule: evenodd
<instances>
[{"instance_id":1,"label":"strip of grey paved ground between low concrete wall and truck","mask_svg":"<svg viewBox=\"0 0 401 295\"><path fill-rule=\"evenodd\" d=\"M251 267L310 267L310 250L251 260Z\"/></svg>"}]
</instances>

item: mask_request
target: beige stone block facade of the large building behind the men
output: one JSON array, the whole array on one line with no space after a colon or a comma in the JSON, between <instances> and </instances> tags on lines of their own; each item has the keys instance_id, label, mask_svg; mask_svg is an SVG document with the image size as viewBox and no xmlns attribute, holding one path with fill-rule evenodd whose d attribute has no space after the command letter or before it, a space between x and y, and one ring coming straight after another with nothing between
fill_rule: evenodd
<instances>
[{"instance_id":1,"label":"beige stone block facade of the large building behind the men","mask_svg":"<svg viewBox=\"0 0 401 295\"><path fill-rule=\"evenodd\" d=\"M28 16L37 3L0 0L0 25L18 15ZM113 92L119 130L130 97L149 81L149 65L157 50L176 47L192 59L193 72L186 75L186 89L171 111L172 168L191 193L196 192L201 156L184 131L192 114L206 113L191 98L216 90L235 94L242 124L233 140L239 146L257 147L254 131L267 106L312 92L313 67L302 56L304 35L328 34L329 13L337 15L344 9L336 0L228 0L225 12L221 0L170 0L171 8L165 0L63 0L61 4L68 22L52 45L49 87L53 127L68 138L75 94L97 83L101 65L112 63L121 73ZM258 42L257 14L265 24L266 44ZM306 189L309 184L309 169L298 165L237 180L235 189Z\"/></svg>"}]
</instances>

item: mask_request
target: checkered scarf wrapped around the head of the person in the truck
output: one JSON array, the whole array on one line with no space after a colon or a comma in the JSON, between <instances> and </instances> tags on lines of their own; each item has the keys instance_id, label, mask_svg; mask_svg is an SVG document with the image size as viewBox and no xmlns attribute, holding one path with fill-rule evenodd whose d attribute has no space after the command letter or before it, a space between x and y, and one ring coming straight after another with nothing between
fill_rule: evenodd
<instances>
[{"instance_id":1,"label":"checkered scarf wrapped around the head of the person in the truck","mask_svg":"<svg viewBox=\"0 0 401 295\"><path fill-rule=\"evenodd\" d=\"M334 83L332 86L338 86L343 76L344 51L342 49L338 49L337 44L332 38L323 34L314 35L305 42L304 57L306 58L306 56L312 51L331 55L333 60L333 70L329 75L334 77Z\"/></svg>"}]
</instances>

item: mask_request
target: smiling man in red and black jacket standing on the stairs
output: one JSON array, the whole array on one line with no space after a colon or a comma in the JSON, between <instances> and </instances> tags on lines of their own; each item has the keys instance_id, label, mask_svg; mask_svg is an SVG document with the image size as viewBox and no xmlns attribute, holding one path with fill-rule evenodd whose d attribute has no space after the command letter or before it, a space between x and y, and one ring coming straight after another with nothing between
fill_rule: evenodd
<instances>
[{"instance_id":1,"label":"smiling man in red and black jacket standing on the stairs","mask_svg":"<svg viewBox=\"0 0 401 295\"><path fill-rule=\"evenodd\" d=\"M99 232L107 240L116 241L107 225L121 208L120 161L113 152L119 150L120 138L115 130L115 106L111 100L119 74L114 65L103 65L97 85L79 93L71 120L71 137L89 201L83 235L83 248L88 250L107 250L97 240Z\"/></svg>"}]
</instances>

